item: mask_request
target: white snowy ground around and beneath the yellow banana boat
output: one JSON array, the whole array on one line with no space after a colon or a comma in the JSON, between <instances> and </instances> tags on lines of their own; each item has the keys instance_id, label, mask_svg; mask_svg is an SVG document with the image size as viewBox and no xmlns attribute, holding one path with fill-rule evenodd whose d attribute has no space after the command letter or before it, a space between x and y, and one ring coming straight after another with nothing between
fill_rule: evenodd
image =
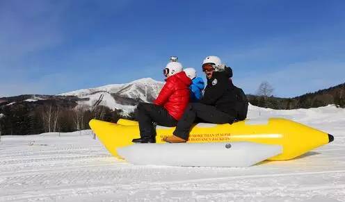
<instances>
[{"instance_id":1,"label":"white snowy ground around and beneath the yellow banana boat","mask_svg":"<svg viewBox=\"0 0 345 202\"><path fill-rule=\"evenodd\" d=\"M90 131L3 136L0 201L345 201L345 110L267 110L335 141L300 158L249 168L134 166L113 158ZM301 142L300 144L303 144Z\"/></svg>"}]
</instances>

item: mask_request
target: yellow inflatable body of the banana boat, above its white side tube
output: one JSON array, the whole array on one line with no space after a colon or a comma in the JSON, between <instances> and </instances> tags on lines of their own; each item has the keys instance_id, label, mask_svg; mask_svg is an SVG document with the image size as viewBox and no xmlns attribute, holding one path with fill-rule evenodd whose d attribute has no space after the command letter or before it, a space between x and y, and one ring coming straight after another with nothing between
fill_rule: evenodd
<instances>
[{"instance_id":1,"label":"yellow inflatable body of the banana boat, above its white side tube","mask_svg":"<svg viewBox=\"0 0 345 202\"><path fill-rule=\"evenodd\" d=\"M120 119L118 124L92 119L90 127L106 149L116 157L118 147L133 144L140 137L138 122ZM175 127L157 126L157 143L172 135ZM188 142L239 142L280 144L283 152L268 160L289 160L323 144L334 137L315 128L282 118L248 119L234 124L196 124L191 129ZM187 142L187 144L188 144Z\"/></svg>"}]
</instances>

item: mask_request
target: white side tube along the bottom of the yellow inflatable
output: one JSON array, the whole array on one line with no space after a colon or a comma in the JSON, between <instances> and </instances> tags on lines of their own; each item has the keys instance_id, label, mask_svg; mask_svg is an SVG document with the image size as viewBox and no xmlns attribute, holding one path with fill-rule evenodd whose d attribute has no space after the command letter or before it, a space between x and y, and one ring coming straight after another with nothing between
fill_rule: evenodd
<instances>
[{"instance_id":1,"label":"white side tube along the bottom of the yellow inflatable","mask_svg":"<svg viewBox=\"0 0 345 202\"><path fill-rule=\"evenodd\" d=\"M282 153L282 146L253 142L132 144L118 149L137 165L250 167Z\"/></svg>"}]
</instances>

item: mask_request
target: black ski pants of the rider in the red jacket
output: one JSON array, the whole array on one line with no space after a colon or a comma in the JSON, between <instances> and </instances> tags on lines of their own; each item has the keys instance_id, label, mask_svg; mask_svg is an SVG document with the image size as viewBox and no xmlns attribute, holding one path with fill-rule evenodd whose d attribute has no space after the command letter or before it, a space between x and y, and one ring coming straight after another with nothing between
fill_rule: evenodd
<instances>
[{"instance_id":1,"label":"black ski pants of the rider in the red jacket","mask_svg":"<svg viewBox=\"0 0 345 202\"><path fill-rule=\"evenodd\" d=\"M169 115L168 111L162 106L152 103L139 103L136 111L136 119L139 122L141 137L155 137L156 128L154 122L159 126L176 126L177 120Z\"/></svg>"}]
</instances>

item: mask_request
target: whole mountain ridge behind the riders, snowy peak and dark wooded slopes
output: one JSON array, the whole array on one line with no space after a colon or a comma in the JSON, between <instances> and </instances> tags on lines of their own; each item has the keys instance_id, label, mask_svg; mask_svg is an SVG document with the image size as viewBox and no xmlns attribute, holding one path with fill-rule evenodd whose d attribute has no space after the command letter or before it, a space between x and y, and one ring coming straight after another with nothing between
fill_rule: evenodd
<instances>
[{"instance_id":1,"label":"whole mountain ridge behind the riders, snowy peak and dark wooded slopes","mask_svg":"<svg viewBox=\"0 0 345 202\"><path fill-rule=\"evenodd\" d=\"M120 117L133 119L136 105L139 102L152 102L162 86L163 82L144 78L64 94L2 97L0 133L30 135L71 132L87 129L88 121L93 118L104 121L117 121ZM248 99L253 106L282 110L316 108L332 103L345 107L345 83L290 99L253 95L248 95ZM55 117L56 122L47 121L50 116Z\"/></svg>"}]
</instances>

